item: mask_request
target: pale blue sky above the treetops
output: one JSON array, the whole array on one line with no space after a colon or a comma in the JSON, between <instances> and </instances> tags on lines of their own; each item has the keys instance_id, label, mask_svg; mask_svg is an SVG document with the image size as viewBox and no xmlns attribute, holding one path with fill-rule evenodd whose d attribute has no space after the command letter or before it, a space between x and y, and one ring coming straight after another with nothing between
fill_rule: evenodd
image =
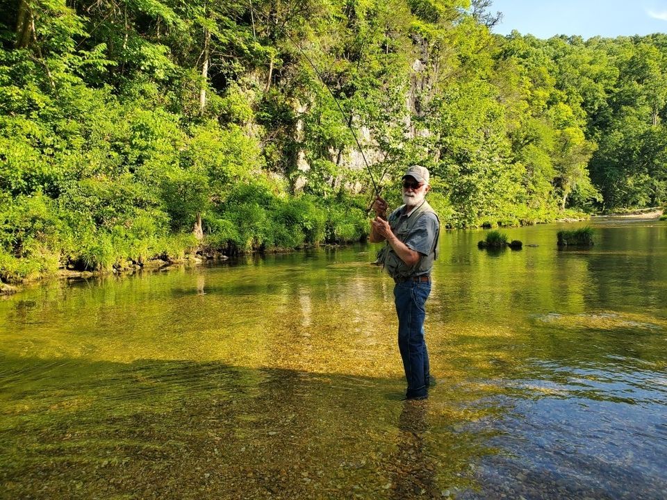
<instances>
[{"instance_id":1,"label":"pale blue sky above the treetops","mask_svg":"<svg viewBox=\"0 0 667 500\"><path fill-rule=\"evenodd\" d=\"M537 38L667 33L667 0L493 0L488 10L503 13L493 28L501 35L514 29Z\"/></svg>"}]
</instances>

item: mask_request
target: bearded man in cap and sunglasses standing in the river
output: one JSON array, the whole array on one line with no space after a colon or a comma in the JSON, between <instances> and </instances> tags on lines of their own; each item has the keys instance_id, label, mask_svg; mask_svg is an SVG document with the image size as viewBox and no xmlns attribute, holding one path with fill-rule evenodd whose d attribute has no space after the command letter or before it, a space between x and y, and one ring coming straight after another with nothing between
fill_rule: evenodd
<instances>
[{"instance_id":1,"label":"bearded man in cap and sunglasses standing in the river","mask_svg":"<svg viewBox=\"0 0 667 500\"><path fill-rule=\"evenodd\" d=\"M426 399L429 385L429 353L426 347L425 303L431 293L431 269L438 256L440 222L425 200L429 171L413 165L403 176L403 206L388 217L387 203L373 203L370 241L386 242L378 263L394 278L394 301L398 315L398 348L408 390L405 399Z\"/></svg>"}]
</instances>

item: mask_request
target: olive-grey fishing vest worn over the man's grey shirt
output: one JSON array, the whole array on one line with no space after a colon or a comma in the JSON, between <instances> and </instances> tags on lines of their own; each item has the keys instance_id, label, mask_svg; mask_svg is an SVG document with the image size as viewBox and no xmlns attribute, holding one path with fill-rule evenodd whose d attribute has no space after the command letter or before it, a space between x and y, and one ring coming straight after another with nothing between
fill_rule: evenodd
<instances>
[{"instance_id":1,"label":"olive-grey fishing vest worn over the man's grey shirt","mask_svg":"<svg viewBox=\"0 0 667 500\"><path fill-rule=\"evenodd\" d=\"M405 242L408 239L408 236L413 231L417 222L426 213L432 213L438 219L438 214L436 214L425 200L420 206L413 210L413 213L410 214L410 217L401 217L404 206L399 210L395 210L388 219L389 226L391 231L396 235L401 242ZM403 262L403 260L396 255L396 252L391 247L390 244L386 243L384 248L381 249L377 254L377 263L384 265L385 269L389 273L389 276L396 279L405 279L410 278L411 276L419 276L420 274L427 274L431 271L433 267L433 261L438 258L440 253L440 219L438 219L438 231L436 231L436 241L434 244L433 251L429 255L425 256L420 254L418 263L410 267Z\"/></svg>"}]
</instances>

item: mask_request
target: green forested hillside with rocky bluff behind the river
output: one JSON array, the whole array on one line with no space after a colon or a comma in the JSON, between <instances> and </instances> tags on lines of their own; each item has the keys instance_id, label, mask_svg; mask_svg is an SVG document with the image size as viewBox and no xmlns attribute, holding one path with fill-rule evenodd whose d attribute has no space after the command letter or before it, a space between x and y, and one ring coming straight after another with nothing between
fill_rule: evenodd
<instances>
[{"instance_id":1,"label":"green forested hillside with rocky bluff behind the river","mask_svg":"<svg viewBox=\"0 0 667 500\"><path fill-rule=\"evenodd\" d=\"M0 0L0 278L359 240L347 120L449 227L663 203L667 35L503 37L490 3Z\"/></svg>"}]
</instances>

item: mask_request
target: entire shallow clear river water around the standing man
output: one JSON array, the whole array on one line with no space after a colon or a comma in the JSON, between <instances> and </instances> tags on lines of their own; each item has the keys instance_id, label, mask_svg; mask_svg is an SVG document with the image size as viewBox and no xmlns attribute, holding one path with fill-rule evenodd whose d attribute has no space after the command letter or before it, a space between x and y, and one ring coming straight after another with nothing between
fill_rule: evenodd
<instances>
[{"instance_id":1,"label":"entire shallow clear river water around the standing man","mask_svg":"<svg viewBox=\"0 0 667 500\"><path fill-rule=\"evenodd\" d=\"M664 499L667 225L593 225L443 233L423 402L372 246L4 299L0 496Z\"/></svg>"}]
</instances>

